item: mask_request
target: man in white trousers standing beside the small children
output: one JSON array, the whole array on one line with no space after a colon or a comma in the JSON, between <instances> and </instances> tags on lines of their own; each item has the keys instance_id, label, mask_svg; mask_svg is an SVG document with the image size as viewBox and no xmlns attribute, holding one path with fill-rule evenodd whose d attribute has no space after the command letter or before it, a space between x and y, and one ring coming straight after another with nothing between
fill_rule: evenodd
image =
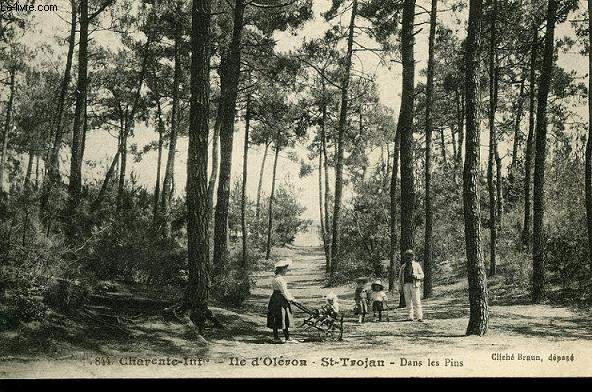
<instances>
[{"instance_id":1,"label":"man in white trousers standing beside the small children","mask_svg":"<svg viewBox=\"0 0 592 392\"><path fill-rule=\"evenodd\" d=\"M413 321L414 311L417 321L423 321L421 308L421 282L423 281L423 270L421 265L415 261L413 250L409 249L404 254L405 264L399 272L399 284L405 295L405 305L409 315L409 321Z\"/></svg>"}]
</instances>

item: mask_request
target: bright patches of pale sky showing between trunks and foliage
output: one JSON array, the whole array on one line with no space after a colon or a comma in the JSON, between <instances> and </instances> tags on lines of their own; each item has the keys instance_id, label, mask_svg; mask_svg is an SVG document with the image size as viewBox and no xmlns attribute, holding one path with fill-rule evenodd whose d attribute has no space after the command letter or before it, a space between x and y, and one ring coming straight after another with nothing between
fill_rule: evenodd
<instances>
[{"instance_id":1,"label":"bright patches of pale sky showing between trunks and foliage","mask_svg":"<svg viewBox=\"0 0 592 392\"><path fill-rule=\"evenodd\" d=\"M418 1L418 5L429 9L429 2L428 1ZM53 39L54 36L66 36L67 35L67 26L63 22L63 19L66 20L69 18L69 4L66 1L56 0L55 4L58 5L57 12L42 12L36 14L36 20L41 28L41 32L38 31L31 31L27 34L27 42L31 46L40 46L40 45L51 45L55 46L55 41ZM313 11L315 19L312 21L307 22L304 27L297 32L296 36L293 36L289 32L280 32L275 35L277 40L277 50L278 51L289 51L296 49L302 42L303 39L310 39L314 37L318 37L324 29L327 28L328 23L324 21L323 18L319 16L320 13L325 12L330 7L330 2L316 0L313 2ZM443 8L443 7L442 7ZM445 9L445 8L443 8ZM442 10L441 10L442 11ZM465 10L466 12L466 10ZM466 24L466 14L458 15L459 18L463 19L463 23L456 24L455 23L455 16L452 16L450 12L440 12L438 18L441 19L441 23L448 25L458 34L459 38L463 38L466 34L465 24ZM347 19L347 14L341 16L344 20ZM418 82L425 82L425 75L420 74L419 70L425 68L427 64L427 34L429 32L429 25L428 20L429 15L422 14L417 17L417 23L424 23L423 25L419 26L421 31L416 35L416 45L415 45L415 60L416 60L416 75ZM569 22L562 23L557 27L556 36L562 37L565 35L573 35L574 29L570 25ZM109 46L109 47L116 47L120 45L118 37L111 33L111 32L96 32L94 33L95 40L101 41L101 45ZM100 37L100 38L99 38ZM56 48L56 53L59 51L63 51L67 49L67 47L62 46ZM43 58L43 57L42 57ZM41 60L39 60L41 61ZM50 64L55 65L58 69L61 69L62 64L57 62L55 58L48 57L47 60ZM395 116L399 111L400 106L400 77L401 77L401 68L400 64L392 63L391 69L386 68L383 64L380 64L379 60L377 59L376 55L367 52L358 53L354 59L354 67L365 70L368 72L375 72L376 73L376 82L378 86L378 92L380 94L380 98L382 103L390 107L394 110ZM579 54L577 51L573 50L568 53L560 52L557 64L564 67L566 71L575 70L578 72L578 75L584 78L587 74L586 68L586 58ZM582 79L584 82L584 79ZM576 112L580 114L583 118L587 117L587 104L582 103L579 107L575 108ZM242 122L242 118L236 124L236 129L243 129L244 124ZM104 166L107 165L111 161L112 152L115 149L117 139L113 137L114 135L107 135L105 132L93 132L89 135L87 140L87 150L85 159L86 160L93 160L98 161L98 164L94 168L90 168L85 166L83 168L83 176L86 177L93 177L93 178L101 178L104 172ZM153 132L152 129L147 128L144 124L139 123L136 125L136 131L132 138L130 138L130 144L136 144L139 149L141 149L144 145L147 145L151 142L154 142L156 139L156 134ZM487 131L484 130L483 137L487 138ZM211 135L210 135L211 138ZM211 142L210 142L211 143ZM234 135L233 140L234 150L240 151L241 146L243 145L243 132L236 132ZM509 145L502 143L500 145L500 150L502 151L502 155L505 155L504 151L508 148L511 148ZM262 158L262 151L264 146L252 146L251 147L251 156L249 159L249 171L255 173L258 171L260 166L261 158ZM302 147L297 147L298 152L305 151ZM175 168L175 184L178 186L175 187L175 194L180 195L184 192L183 186L181 184L185 183L186 178L186 161L187 161L187 138L186 136L181 136L178 141L177 146L177 164ZM301 154L302 155L302 154ZM378 155L378 152L374 152L374 157ZM482 143L482 151L481 151L482 163L486 164L487 160L487 143L486 140L483 140ZM506 159L509 159L509 154ZM283 167L282 172L280 173L280 182L282 181L282 177L285 179L297 182L298 187L302 189L300 192L302 203L306 206L306 212L304 216L308 219L318 220L318 181L314 176L309 176L305 178L298 178L298 170L299 170L299 163L292 162L287 153L281 152L280 153L280 160L283 160ZM156 165L156 151L150 151L146 153L140 162L132 161L130 162L130 170L133 171L138 178L138 182L142 185L152 187L155 181L155 170L154 167ZM164 171L165 163L163 162L162 170ZM271 172L271 165L267 166L267 170ZM266 171L267 171L266 170ZM242 172L242 159L233 159L232 165L232 177L237 178L240 177ZM269 188L271 186L269 182L269 178L271 176L264 176L264 186ZM250 197L253 197L256 194L257 190L257 183L255 181L251 181L248 184L248 194ZM345 196L348 196L347 189L345 191Z\"/></svg>"}]
</instances>

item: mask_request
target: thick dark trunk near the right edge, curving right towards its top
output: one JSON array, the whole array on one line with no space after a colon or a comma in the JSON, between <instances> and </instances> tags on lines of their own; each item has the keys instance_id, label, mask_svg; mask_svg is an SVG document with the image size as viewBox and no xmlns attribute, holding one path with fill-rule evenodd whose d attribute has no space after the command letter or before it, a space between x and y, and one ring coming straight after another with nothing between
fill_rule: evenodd
<instances>
[{"instance_id":1,"label":"thick dark trunk near the right edge, curving right towards its top","mask_svg":"<svg viewBox=\"0 0 592 392\"><path fill-rule=\"evenodd\" d=\"M532 300L540 302L545 294L545 157L547 148L547 98L553 71L553 48L555 40L555 19L557 0L549 0L543 66L539 78L537 115L535 129L534 195L533 195L533 266Z\"/></svg>"}]
</instances>

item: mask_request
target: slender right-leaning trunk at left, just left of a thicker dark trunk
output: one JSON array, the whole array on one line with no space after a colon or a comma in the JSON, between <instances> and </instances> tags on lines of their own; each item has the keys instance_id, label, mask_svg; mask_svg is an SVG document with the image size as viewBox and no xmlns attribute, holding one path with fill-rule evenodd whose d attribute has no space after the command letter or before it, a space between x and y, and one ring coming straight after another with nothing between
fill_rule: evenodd
<instances>
[{"instance_id":1,"label":"slender right-leaning trunk at left, just left of a thicker dark trunk","mask_svg":"<svg viewBox=\"0 0 592 392\"><path fill-rule=\"evenodd\" d=\"M64 113L64 105L66 101L66 95L68 93L68 87L70 86L70 74L72 70L72 58L74 57L74 46L76 43L76 1L70 0L71 8L71 21L70 21L70 38L68 40L68 54L66 55L66 68L64 70L64 77L62 78L62 84L60 86L60 92L58 95L58 102L56 106L56 113L54 119L54 131L53 131L53 145L49 154L49 162L47 164L47 176L44 179L43 191L41 193L41 208L40 213L43 217L46 226L50 224L51 217L48 215L50 210L49 199L51 192L55 184L60 181L60 169L59 169L59 155L60 148L62 146L62 116ZM49 214L51 215L51 214Z\"/></svg>"}]
</instances>

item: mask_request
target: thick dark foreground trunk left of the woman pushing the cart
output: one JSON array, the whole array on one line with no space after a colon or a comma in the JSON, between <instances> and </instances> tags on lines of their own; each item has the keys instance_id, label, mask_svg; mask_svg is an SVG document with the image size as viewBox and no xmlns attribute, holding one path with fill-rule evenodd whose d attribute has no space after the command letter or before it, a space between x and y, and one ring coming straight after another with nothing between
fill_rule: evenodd
<instances>
[{"instance_id":1,"label":"thick dark foreground trunk left of the woman pushing the cart","mask_svg":"<svg viewBox=\"0 0 592 392\"><path fill-rule=\"evenodd\" d=\"M210 263L208 236L208 112L210 104L210 0L194 0L191 18L191 97L187 153L187 256L189 282L185 305L203 333L213 318L208 309Z\"/></svg>"}]
</instances>

